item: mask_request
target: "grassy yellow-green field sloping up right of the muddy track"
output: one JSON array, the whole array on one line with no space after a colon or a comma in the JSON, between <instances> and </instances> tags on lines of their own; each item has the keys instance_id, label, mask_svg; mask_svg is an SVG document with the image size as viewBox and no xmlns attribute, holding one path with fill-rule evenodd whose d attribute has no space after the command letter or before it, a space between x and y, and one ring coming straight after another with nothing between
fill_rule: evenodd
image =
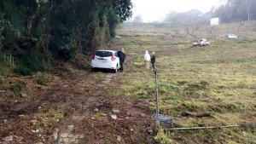
<instances>
[{"instance_id":1,"label":"grassy yellow-green field sloping up right of the muddy track","mask_svg":"<svg viewBox=\"0 0 256 144\"><path fill-rule=\"evenodd\" d=\"M241 127L217 130L168 131L154 136L160 143L256 143L256 25L255 21L203 27L193 32L170 27L122 26L115 40L127 54L123 84L113 95L135 96L152 104L154 72L146 70L145 50L156 53L160 113L176 117L182 127ZM253 27L254 26L254 27ZM192 29L192 28L191 28ZM175 32L176 31L176 32ZM224 39L233 32L237 39ZM195 36L195 37L194 37ZM189 48L201 37L209 47ZM189 112L212 112L211 117L184 116Z\"/></svg>"}]
</instances>

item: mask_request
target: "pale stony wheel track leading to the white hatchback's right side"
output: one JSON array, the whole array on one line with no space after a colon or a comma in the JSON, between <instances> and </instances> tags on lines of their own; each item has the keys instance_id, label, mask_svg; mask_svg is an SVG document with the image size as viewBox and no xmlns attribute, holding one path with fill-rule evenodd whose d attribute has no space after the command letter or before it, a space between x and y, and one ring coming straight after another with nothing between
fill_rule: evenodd
<instances>
[{"instance_id":1,"label":"pale stony wheel track leading to the white hatchback's right side","mask_svg":"<svg viewBox=\"0 0 256 144\"><path fill-rule=\"evenodd\" d=\"M117 78L118 74L106 73L105 78L96 84L88 95L80 96L78 100L74 101L77 104L76 110L71 116L71 119L61 121L61 126L58 130L55 130L53 135L55 141L61 140L65 143L73 143L84 139L83 133L73 134L73 131L83 127L81 126L81 122L83 123L84 119L90 118L96 107L112 108L112 104L105 100L106 95L104 95L104 92L105 89L108 89L108 84ZM58 131L61 132L59 137L57 135Z\"/></svg>"}]
</instances>

